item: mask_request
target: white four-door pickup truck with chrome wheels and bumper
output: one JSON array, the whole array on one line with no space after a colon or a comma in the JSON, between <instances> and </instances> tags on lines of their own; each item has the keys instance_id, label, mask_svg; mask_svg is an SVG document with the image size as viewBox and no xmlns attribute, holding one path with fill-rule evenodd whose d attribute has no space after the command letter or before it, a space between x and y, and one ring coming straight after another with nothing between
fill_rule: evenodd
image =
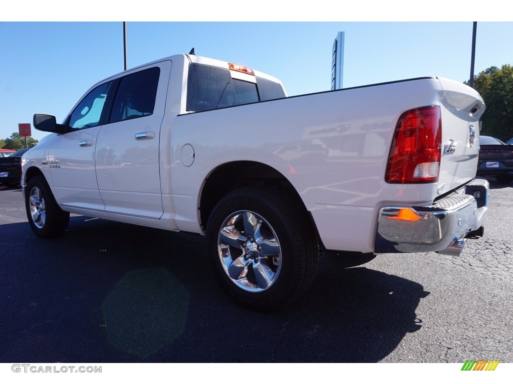
<instances>
[{"instance_id":1,"label":"white four-door pickup truck with chrome wheels and bumper","mask_svg":"<svg viewBox=\"0 0 513 384\"><path fill-rule=\"evenodd\" d=\"M453 252L482 236L480 95L424 77L286 97L264 73L175 55L95 84L23 157L42 238L69 214L206 234L222 286L273 309L325 250ZM71 229L72 230L72 229Z\"/></svg>"}]
</instances>

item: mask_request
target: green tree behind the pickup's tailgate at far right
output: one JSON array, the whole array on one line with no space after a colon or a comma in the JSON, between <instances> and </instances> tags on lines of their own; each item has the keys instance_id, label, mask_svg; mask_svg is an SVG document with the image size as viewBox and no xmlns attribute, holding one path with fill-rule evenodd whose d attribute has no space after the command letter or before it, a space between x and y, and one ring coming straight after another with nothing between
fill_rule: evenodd
<instances>
[{"instance_id":1,"label":"green tree behind the pickup's tailgate at far right","mask_svg":"<svg viewBox=\"0 0 513 384\"><path fill-rule=\"evenodd\" d=\"M468 82L465 82L468 85ZM503 141L513 137L513 67L490 67L474 76L473 88L486 104L482 135Z\"/></svg>"}]
</instances>

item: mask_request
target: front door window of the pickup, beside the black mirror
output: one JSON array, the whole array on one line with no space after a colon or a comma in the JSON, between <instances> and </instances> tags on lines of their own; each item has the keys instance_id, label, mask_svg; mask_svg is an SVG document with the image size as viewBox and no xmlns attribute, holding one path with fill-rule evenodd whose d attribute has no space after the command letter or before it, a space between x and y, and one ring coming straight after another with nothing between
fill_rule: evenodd
<instances>
[{"instance_id":1,"label":"front door window of the pickup, beside the black mirror","mask_svg":"<svg viewBox=\"0 0 513 384\"><path fill-rule=\"evenodd\" d=\"M89 92L71 113L70 128L82 130L99 125L111 89L112 81L109 81Z\"/></svg>"}]
</instances>

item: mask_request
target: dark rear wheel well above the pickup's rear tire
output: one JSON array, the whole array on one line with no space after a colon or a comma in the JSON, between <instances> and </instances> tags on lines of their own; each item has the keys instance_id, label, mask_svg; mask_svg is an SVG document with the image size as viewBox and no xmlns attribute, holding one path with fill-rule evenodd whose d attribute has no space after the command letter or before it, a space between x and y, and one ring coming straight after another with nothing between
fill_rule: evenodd
<instances>
[{"instance_id":1,"label":"dark rear wheel well above the pickup's rear tire","mask_svg":"<svg viewBox=\"0 0 513 384\"><path fill-rule=\"evenodd\" d=\"M236 161L215 168L206 179L200 200L202 227L206 228L212 209L223 196L232 190L248 186L282 190L289 198L296 200L298 206L306 213L306 207L295 188L276 169L253 161ZM315 229L315 226L312 229Z\"/></svg>"}]
</instances>

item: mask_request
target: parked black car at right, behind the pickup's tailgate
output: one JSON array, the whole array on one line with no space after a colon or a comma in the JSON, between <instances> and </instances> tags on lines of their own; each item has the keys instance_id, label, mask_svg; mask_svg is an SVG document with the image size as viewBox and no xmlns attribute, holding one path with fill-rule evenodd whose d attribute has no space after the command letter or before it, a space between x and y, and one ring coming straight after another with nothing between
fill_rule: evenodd
<instances>
[{"instance_id":1,"label":"parked black car at right, behind the pickup's tailgate","mask_svg":"<svg viewBox=\"0 0 513 384\"><path fill-rule=\"evenodd\" d=\"M513 145L491 136L480 137L477 176L492 176L499 183L513 180Z\"/></svg>"}]
</instances>

